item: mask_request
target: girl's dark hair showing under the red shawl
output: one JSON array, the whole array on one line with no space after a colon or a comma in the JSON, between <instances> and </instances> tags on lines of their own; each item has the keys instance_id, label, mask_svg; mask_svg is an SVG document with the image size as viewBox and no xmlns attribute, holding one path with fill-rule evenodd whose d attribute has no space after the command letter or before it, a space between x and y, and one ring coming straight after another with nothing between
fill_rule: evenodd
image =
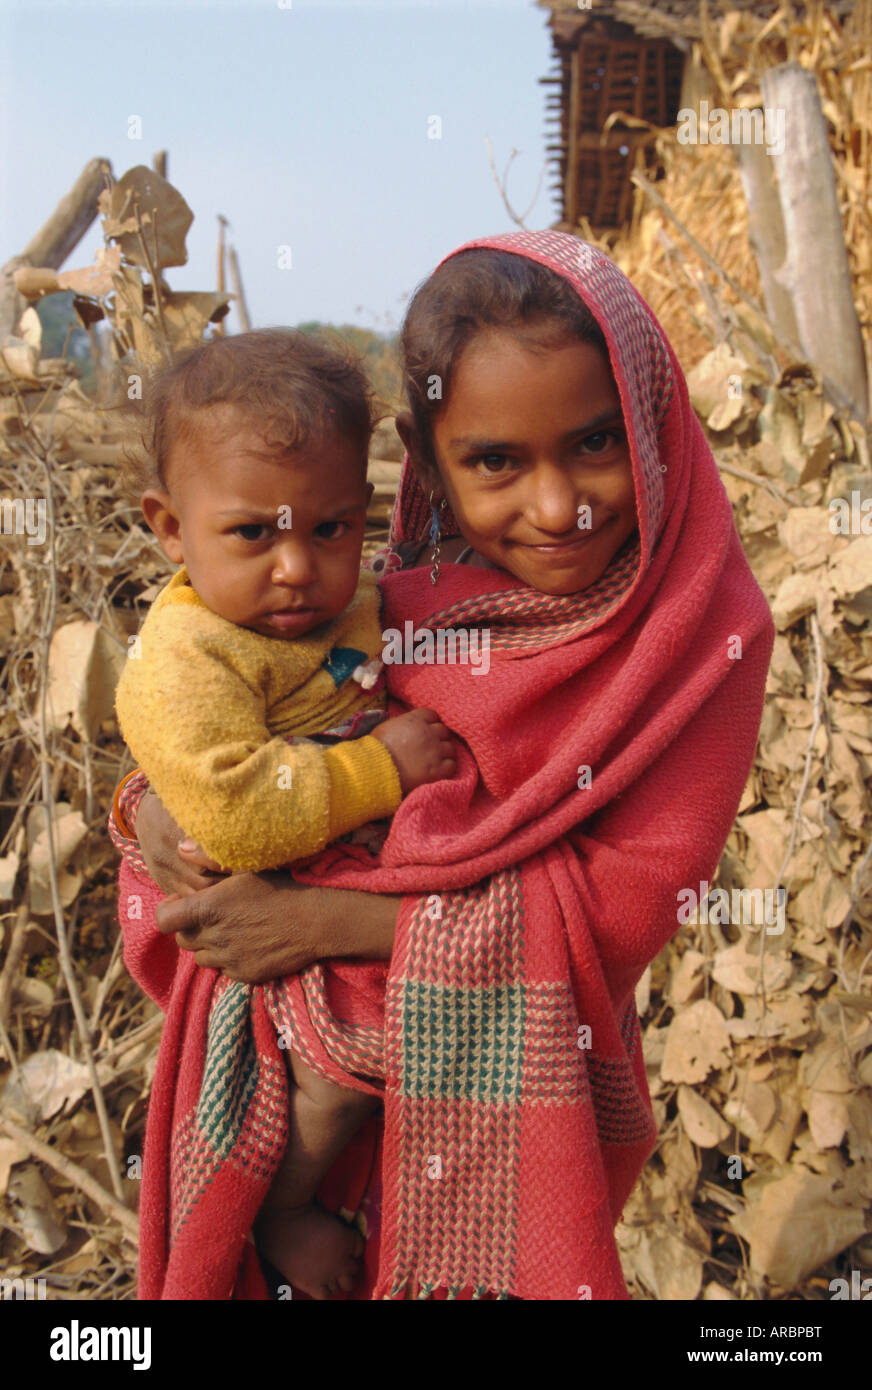
<instances>
[{"instance_id":1,"label":"girl's dark hair showing under the red shawl","mask_svg":"<svg viewBox=\"0 0 872 1390\"><path fill-rule=\"evenodd\" d=\"M576 338L594 343L608 361L602 329L572 285L526 256L471 247L452 256L416 289L403 320L401 352L414 432L431 467L433 421L448 399L460 353L484 328L522 325L541 346Z\"/></svg>"}]
</instances>

